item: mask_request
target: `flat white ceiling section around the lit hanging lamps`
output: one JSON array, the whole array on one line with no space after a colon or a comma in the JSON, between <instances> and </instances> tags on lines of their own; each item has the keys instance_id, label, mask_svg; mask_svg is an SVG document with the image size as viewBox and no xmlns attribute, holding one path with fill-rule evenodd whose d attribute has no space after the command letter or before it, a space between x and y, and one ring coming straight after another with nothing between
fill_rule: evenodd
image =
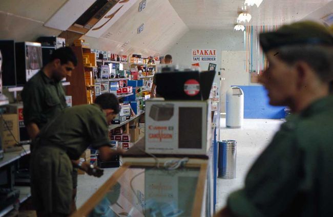
<instances>
[{"instance_id":1,"label":"flat white ceiling section around the lit hanging lamps","mask_svg":"<svg viewBox=\"0 0 333 217\"><path fill-rule=\"evenodd\" d=\"M230 29L244 0L169 0L190 29ZM263 0L260 7L249 7L249 25L271 26L291 23L323 7L330 0ZM333 8L331 9L333 12Z\"/></svg>"}]
</instances>

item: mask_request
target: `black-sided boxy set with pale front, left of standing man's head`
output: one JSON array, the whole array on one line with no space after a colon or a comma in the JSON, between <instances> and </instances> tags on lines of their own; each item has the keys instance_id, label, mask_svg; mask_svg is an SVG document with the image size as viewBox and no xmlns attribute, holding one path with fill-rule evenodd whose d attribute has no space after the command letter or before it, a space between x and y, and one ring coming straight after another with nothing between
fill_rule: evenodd
<instances>
[{"instance_id":1,"label":"black-sided boxy set with pale front, left of standing man's head","mask_svg":"<svg viewBox=\"0 0 333 217\"><path fill-rule=\"evenodd\" d=\"M17 85L24 85L43 67L41 45L37 42L16 42L15 58Z\"/></svg>"}]
</instances>

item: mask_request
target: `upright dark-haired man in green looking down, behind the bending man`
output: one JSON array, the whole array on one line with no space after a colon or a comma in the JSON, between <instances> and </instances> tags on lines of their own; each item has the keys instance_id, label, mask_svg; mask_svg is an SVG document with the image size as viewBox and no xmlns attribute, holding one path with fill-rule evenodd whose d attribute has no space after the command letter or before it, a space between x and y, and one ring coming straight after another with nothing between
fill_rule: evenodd
<instances>
[{"instance_id":1,"label":"upright dark-haired man in green looking down, behind the bending man","mask_svg":"<svg viewBox=\"0 0 333 217\"><path fill-rule=\"evenodd\" d=\"M22 91L23 116L31 139L34 139L46 123L67 107L61 80L66 75L71 76L76 64L77 59L71 48L59 48L52 53L50 62L24 86ZM72 173L72 209L76 210L77 169L74 168Z\"/></svg>"}]
</instances>

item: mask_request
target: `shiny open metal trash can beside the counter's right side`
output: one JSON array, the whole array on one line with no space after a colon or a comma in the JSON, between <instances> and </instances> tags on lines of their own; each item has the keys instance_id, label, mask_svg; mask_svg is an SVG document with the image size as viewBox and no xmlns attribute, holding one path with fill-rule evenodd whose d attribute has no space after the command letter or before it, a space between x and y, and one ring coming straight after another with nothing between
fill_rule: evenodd
<instances>
[{"instance_id":1,"label":"shiny open metal trash can beside the counter's right side","mask_svg":"<svg viewBox=\"0 0 333 217\"><path fill-rule=\"evenodd\" d=\"M222 140L218 142L218 178L236 178L236 146L235 140Z\"/></svg>"}]
</instances>

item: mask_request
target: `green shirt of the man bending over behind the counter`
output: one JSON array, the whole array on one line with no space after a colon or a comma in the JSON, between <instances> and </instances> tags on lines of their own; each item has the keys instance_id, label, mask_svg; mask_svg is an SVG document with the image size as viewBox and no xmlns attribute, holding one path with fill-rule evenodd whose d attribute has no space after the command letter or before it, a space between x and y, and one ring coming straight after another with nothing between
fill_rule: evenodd
<instances>
[{"instance_id":1,"label":"green shirt of the man bending over behind the counter","mask_svg":"<svg viewBox=\"0 0 333 217\"><path fill-rule=\"evenodd\" d=\"M41 146L64 149L71 160L77 160L89 145L108 145L108 123L105 113L96 104L77 105L63 110L40 132Z\"/></svg>"}]
</instances>

